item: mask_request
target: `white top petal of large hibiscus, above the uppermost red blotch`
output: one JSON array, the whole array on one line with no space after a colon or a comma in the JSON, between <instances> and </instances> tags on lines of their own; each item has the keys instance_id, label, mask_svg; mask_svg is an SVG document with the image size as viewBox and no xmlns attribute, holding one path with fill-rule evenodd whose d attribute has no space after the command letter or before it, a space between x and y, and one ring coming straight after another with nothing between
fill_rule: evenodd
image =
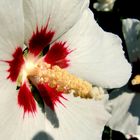
<instances>
[{"instance_id":1,"label":"white top petal of large hibiscus, above the uppermost red blotch","mask_svg":"<svg viewBox=\"0 0 140 140\"><path fill-rule=\"evenodd\" d=\"M24 0L26 42L36 27L46 26L48 20L55 40L77 22L88 3L88 0Z\"/></svg>"}]
</instances>

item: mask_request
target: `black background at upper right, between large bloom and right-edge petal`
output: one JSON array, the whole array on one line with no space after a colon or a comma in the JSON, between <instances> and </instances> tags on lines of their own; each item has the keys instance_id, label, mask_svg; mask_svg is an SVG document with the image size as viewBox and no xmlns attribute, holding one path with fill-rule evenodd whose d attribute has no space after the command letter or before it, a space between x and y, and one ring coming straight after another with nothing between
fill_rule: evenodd
<instances>
[{"instance_id":1,"label":"black background at upper right, between large bloom and right-edge petal","mask_svg":"<svg viewBox=\"0 0 140 140\"><path fill-rule=\"evenodd\" d=\"M93 11L98 24L108 32L115 33L122 39L123 49L128 58L127 48L122 34L122 22L124 18L136 18L140 20L139 0L116 0L114 8L110 12L99 12L93 8L96 0L90 0L90 9Z\"/></svg>"}]
</instances>

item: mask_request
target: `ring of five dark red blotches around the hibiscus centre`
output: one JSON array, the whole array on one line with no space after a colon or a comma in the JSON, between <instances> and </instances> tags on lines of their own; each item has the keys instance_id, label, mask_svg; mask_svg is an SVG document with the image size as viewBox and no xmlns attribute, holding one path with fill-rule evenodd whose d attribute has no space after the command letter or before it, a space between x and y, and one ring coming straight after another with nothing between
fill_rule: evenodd
<instances>
[{"instance_id":1,"label":"ring of five dark red blotches around the hibiscus centre","mask_svg":"<svg viewBox=\"0 0 140 140\"><path fill-rule=\"evenodd\" d=\"M9 69L7 70L9 75L7 78L12 82L20 83L18 85L18 104L23 108L24 114L26 112L34 114L37 111L34 93L31 90L33 86L30 79L28 79L28 71L26 71L28 69L27 63L30 61L29 56L32 55L34 57L33 64L36 64L38 60L42 60L44 63L50 64L51 66L57 65L60 68L69 66L67 56L71 51L68 50L67 43L55 42L53 45L49 46L54 34L55 31L48 29L48 24L40 30L37 27L36 31L33 32L32 37L29 39L29 46L26 48L27 52L25 53L21 47L17 47L13 53L13 59L5 61L9 64ZM45 53L44 56L39 55L46 48L48 48L47 53ZM41 59L41 56L44 57L44 59ZM47 83L35 86L43 102L54 110L54 105L57 102L61 102L60 97L63 97L62 92L58 92L55 88L49 87Z\"/></svg>"}]
</instances>

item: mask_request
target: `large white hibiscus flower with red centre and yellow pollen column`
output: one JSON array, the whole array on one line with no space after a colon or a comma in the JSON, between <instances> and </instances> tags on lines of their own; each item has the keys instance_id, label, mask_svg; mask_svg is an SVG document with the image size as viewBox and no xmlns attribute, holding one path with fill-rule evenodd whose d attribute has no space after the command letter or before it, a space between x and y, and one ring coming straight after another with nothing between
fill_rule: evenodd
<instances>
[{"instance_id":1,"label":"large white hibiscus flower with red centre and yellow pollen column","mask_svg":"<svg viewBox=\"0 0 140 140\"><path fill-rule=\"evenodd\" d=\"M88 6L0 1L0 139L101 139L109 114L95 99L126 84L131 66Z\"/></svg>"}]
</instances>

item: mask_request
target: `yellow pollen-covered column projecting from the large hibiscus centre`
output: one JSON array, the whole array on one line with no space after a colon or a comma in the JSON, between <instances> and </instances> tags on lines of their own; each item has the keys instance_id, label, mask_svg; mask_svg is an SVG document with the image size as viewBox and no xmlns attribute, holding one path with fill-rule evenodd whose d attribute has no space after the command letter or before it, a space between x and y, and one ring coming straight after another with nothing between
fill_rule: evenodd
<instances>
[{"instance_id":1,"label":"yellow pollen-covered column projecting from the large hibiscus centre","mask_svg":"<svg viewBox=\"0 0 140 140\"><path fill-rule=\"evenodd\" d=\"M76 97L101 99L103 95L103 90L93 90L94 88L89 82L70 74L59 66L51 67L45 62L38 63L29 74L29 79L36 83L48 83L50 87L56 87L57 91L65 94L73 93Z\"/></svg>"}]
</instances>

